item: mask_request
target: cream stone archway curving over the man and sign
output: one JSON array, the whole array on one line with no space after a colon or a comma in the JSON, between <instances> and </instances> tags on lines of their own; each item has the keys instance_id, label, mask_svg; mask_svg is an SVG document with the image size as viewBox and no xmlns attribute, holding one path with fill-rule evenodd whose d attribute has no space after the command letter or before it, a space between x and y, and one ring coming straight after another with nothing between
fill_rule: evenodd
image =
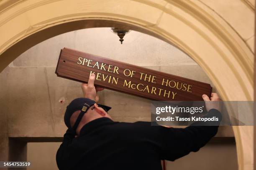
<instances>
[{"instance_id":1,"label":"cream stone archway curving over the man and sign","mask_svg":"<svg viewBox=\"0 0 256 170\"><path fill-rule=\"evenodd\" d=\"M3 2L0 70L29 47L55 35L115 25L177 46L203 68L223 100L253 100L253 53L222 18L199 1ZM233 130L239 168L252 169L253 127L233 127Z\"/></svg>"}]
</instances>

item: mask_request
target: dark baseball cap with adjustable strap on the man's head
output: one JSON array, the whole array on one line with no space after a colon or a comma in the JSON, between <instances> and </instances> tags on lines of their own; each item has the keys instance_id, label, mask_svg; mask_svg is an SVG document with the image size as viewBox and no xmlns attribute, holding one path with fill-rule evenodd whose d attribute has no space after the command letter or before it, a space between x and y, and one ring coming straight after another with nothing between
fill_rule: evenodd
<instances>
[{"instance_id":1,"label":"dark baseball cap with adjustable strap on the man's head","mask_svg":"<svg viewBox=\"0 0 256 170\"><path fill-rule=\"evenodd\" d=\"M80 114L79 114L79 117L77 117L77 121L75 124L79 124L80 120L82 119L82 116L84 115L85 112L87 112L87 110L89 109L89 107L91 107L92 105L94 105L96 102L94 100L91 100L89 98L84 98L84 97L81 97L81 98L76 98L74 100L72 100L72 102L70 102L70 104L67 106L67 110L65 112L65 115L64 115L64 122L65 122L65 125L68 127L68 128L71 128L71 125L70 125L70 117L72 116L72 114L77 111L77 110L81 110ZM111 109L111 107L108 107L108 106L105 106L105 105L100 105L100 104L97 104L99 107L102 107L106 112L108 112L108 110ZM80 118L80 120L78 120ZM78 125L77 124L77 125ZM75 126L75 125L74 125ZM74 127L73 127L74 128ZM76 129L77 127L74 128L74 130Z\"/></svg>"}]
</instances>

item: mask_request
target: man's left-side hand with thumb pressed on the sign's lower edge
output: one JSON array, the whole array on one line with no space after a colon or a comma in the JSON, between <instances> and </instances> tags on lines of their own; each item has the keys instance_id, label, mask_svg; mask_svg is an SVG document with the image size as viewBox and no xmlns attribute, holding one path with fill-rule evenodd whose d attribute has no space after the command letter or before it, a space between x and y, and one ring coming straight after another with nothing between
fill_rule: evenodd
<instances>
[{"instance_id":1,"label":"man's left-side hand with thumb pressed on the sign's lower edge","mask_svg":"<svg viewBox=\"0 0 256 170\"><path fill-rule=\"evenodd\" d=\"M88 84L82 83L82 90L84 97L94 100L95 102L99 101L99 96L97 95L98 91L103 90L104 88L94 86L95 74L91 74L88 80Z\"/></svg>"}]
</instances>

